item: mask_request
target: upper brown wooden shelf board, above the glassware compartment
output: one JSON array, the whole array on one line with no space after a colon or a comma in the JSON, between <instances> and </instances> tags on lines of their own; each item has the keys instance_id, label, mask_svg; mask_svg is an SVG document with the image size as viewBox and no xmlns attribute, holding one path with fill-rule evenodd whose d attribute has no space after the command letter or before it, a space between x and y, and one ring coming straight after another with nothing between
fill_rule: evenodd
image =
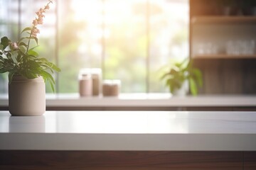
<instances>
[{"instance_id":1,"label":"upper brown wooden shelf board, above the glassware compartment","mask_svg":"<svg viewBox=\"0 0 256 170\"><path fill-rule=\"evenodd\" d=\"M200 23L255 23L256 16L193 16L192 24Z\"/></svg>"}]
</instances>

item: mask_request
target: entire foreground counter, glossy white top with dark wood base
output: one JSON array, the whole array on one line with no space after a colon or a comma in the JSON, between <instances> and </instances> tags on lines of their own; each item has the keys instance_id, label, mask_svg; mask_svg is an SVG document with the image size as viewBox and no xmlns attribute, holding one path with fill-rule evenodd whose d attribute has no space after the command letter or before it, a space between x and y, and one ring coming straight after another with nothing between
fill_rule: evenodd
<instances>
[{"instance_id":1,"label":"entire foreground counter, glossy white top with dark wood base","mask_svg":"<svg viewBox=\"0 0 256 170\"><path fill-rule=\"evenodd\" d=\"M256 169L256 112L0 111L0 169Z\"/></svg>"}]
</instances>

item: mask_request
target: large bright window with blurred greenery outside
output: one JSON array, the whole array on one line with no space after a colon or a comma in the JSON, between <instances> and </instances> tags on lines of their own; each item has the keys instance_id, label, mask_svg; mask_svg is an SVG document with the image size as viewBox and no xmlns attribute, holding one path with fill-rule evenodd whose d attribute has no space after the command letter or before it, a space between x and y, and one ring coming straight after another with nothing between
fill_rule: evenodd
<instances>
[{"instance_id":1,"label":"large bright window with blurred greenery outside","mask_svg":"<svg viewBox=\"0 0 256 170\"><path fill-rule=\"evenodd\" d=\"M0 0L1 35L16 40L45 2ZM167 92L159 69L188 57L188 0L54 1L40 30L40 54L62 69L58 93L77 93L79 70L95 67L120 79L123 93ZM0 74L1 93L6 79Z\"/></svg>"}]
</instances>

